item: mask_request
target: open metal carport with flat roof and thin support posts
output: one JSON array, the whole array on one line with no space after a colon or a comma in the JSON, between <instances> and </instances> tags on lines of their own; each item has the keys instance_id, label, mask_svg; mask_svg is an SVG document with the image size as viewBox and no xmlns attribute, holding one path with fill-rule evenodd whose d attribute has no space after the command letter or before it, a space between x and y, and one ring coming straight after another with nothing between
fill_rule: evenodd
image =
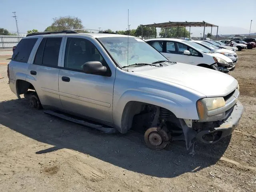
<instances>
[{"instance_id":1,"label":"open metal carport with flat roof and thin support posts","mask_svg":"<svg viewBox=\"0 0 256 192\"><path fill-rule=\"evenodd\" d=\"M211 23L207 22L165 22L165 23L154 23L154 24L148 24L148 25L142 25L142 38L143 38L143 26L148 26L148 27L154 27L154 28L172 28L172 27L204 27L204 32L206 27L217 27L217 34L216 34L216 39L218 38L218 25L214 25ZM190 30L189 30L190 31ZM190 32L189 32L189 37L190 37ZM211 29L211 37L212 37L212 29ZM203 35L204 39L204 35Z\"/></svg>"}]
</instances>

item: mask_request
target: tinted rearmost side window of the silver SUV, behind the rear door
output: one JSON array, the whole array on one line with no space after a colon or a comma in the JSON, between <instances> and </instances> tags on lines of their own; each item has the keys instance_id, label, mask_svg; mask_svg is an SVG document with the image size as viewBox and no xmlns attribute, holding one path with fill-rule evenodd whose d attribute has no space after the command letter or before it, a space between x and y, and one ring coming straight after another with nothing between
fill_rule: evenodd
<instances>
[{"instance_id":1,"label":"tinted rearmost side window of the silver SUV, behind the rear door","mask_svg":"<svg viewBox=\"0 0 256 192\"><path fill-rule=\"evenodd\" d=\"M18 43L14 53L12 55L12 60L26 63L28 62L28 58L30 53L37 41L37 38L28 38L22 39Z\"/></svg>"}]
</instances>

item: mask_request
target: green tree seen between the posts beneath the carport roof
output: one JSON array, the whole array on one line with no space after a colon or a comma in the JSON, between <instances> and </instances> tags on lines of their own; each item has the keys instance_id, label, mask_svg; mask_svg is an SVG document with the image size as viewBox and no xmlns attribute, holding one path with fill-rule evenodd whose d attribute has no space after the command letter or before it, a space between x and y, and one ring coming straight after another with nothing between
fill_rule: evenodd
<instances>
[{"instance_id":1,"label":"green tree seen between the posts beneath the carport roof","mask_svg":"<svg viewBox=\"0 0 256 192\"><path fill-rule=\"evenodd\" d=\"M166 30L166 36L165 36L165 30ZM177 34L178 33L178 34ZM170 28L161 28L161 31L159 33L161 37L184 37L184 27L172 27ZM185 29L185 37L189 37L189 31Z\"/></svg>"}]
</instances>

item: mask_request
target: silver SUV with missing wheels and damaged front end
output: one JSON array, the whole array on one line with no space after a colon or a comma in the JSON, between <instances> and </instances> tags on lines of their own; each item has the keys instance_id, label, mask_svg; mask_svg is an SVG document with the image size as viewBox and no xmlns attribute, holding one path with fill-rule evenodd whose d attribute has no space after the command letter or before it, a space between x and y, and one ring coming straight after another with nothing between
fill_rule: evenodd
<instances>
[{"instance_id":1,"label":"silver SUV with missing wheels and damaged front end","mask_svg":"<svg viewBox=\"0 0 256 192\"><path fill-rule=\"evenodd\" d=\"M232 76L170 62L133 36L37 32L19 42L8 71L10 89L30 107L105 132L144 132L155 150L175 139L187 148L218 142L243 112Z\"/></svg>"}]
</instances>

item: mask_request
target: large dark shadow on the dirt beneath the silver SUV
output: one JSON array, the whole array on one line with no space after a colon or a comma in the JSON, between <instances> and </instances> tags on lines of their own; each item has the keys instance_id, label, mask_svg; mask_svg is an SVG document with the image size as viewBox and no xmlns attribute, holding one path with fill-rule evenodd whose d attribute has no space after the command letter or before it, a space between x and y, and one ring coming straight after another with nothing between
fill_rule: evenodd
<instances>
[{"instance_id":1,"label":"large dark shadow on the dirt beneath the silver SUV","mask_svg":"<svg viewBox=\"0 0 256 192\"><path fill-rule=\"evenodd\" d=\"M0 102L0 124L34 140L54 145L35 151L36 154L68 148L126 170L164 178L196 172L215 164L230 142L228 137L214 145L197 143L194 156L188 154L184 142L171 144L167 150L152 151L144 145L141 134L104 134L44 114L43 110L30 109L26 99Z\"/></svg>"}]
</instances>

